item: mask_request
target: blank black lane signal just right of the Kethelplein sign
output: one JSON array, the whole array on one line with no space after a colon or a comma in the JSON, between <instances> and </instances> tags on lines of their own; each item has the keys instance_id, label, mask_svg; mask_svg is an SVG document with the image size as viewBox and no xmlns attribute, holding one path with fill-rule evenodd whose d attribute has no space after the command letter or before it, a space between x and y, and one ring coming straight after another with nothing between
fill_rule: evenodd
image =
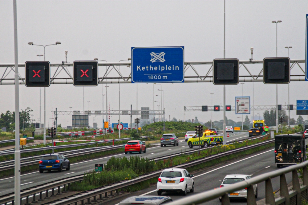
<instances>
[{"instance_id":1,"label":"blank black lane signal just right of the Kethelplein sign","mask_svg":"<svg viewBox=\"0 0 308 205\"><path fill-rule=\"evenodd\" d=\"M214 59L213 83L215 85L237 85L239 82L238 59Z\"/></svg>"}]
</instances>

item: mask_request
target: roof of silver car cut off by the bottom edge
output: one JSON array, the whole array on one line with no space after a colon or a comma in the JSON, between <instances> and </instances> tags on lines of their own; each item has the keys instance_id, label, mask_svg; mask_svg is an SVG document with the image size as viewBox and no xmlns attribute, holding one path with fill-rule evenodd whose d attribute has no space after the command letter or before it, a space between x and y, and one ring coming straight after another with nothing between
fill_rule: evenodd
<instances>
[{"instance_id":1,"label":"roof of silver car cut off by the bottom edge","mask_svg":"<svg viewBox=\"0 0 308 205\"><path fill-rule=\"evenodd\" d=\"M131 196L122 200L119 205L144 204L144 205L159 205L172 202L169 196Z\"/></svg>"}]
</instances>

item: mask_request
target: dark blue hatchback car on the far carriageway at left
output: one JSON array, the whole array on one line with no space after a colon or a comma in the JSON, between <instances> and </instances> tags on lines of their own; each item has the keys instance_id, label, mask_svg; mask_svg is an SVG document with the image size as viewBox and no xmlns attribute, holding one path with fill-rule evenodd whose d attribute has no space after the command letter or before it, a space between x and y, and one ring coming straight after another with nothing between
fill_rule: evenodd
<instances>
[{"instance_id":1,"label":"dark blue hatchback car on the far carriageway at left","mask_svg":"<svg viewBox=\"0 0 308 205\"><path fill-rule=\"evenodd\" d=\"M62 172L63 169L70 170L70 161L62 154L49 154L42 157L39 161L39 173L51 170Z\"/></svg>"}]
</instances>

